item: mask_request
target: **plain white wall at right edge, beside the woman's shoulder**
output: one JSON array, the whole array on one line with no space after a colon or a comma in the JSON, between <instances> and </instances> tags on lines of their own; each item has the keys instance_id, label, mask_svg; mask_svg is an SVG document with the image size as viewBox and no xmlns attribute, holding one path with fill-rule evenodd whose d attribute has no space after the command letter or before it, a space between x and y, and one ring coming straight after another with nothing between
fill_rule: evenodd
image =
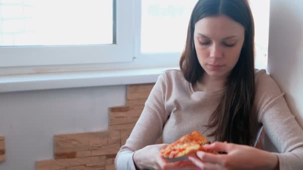
<instances>
[{"instance_id":1,"label":"plain white wall at right edge, beside the woman's shoulder","mask_svg":"<svg viewBox=\"0 0 303 170\"><path fill-rule=\"evenodd\" d=\"M268 56L268 72L285 92L288 105L301 127L303 127L302 8L302 0L271 0Z\"/></svg>"}]
</instances>

